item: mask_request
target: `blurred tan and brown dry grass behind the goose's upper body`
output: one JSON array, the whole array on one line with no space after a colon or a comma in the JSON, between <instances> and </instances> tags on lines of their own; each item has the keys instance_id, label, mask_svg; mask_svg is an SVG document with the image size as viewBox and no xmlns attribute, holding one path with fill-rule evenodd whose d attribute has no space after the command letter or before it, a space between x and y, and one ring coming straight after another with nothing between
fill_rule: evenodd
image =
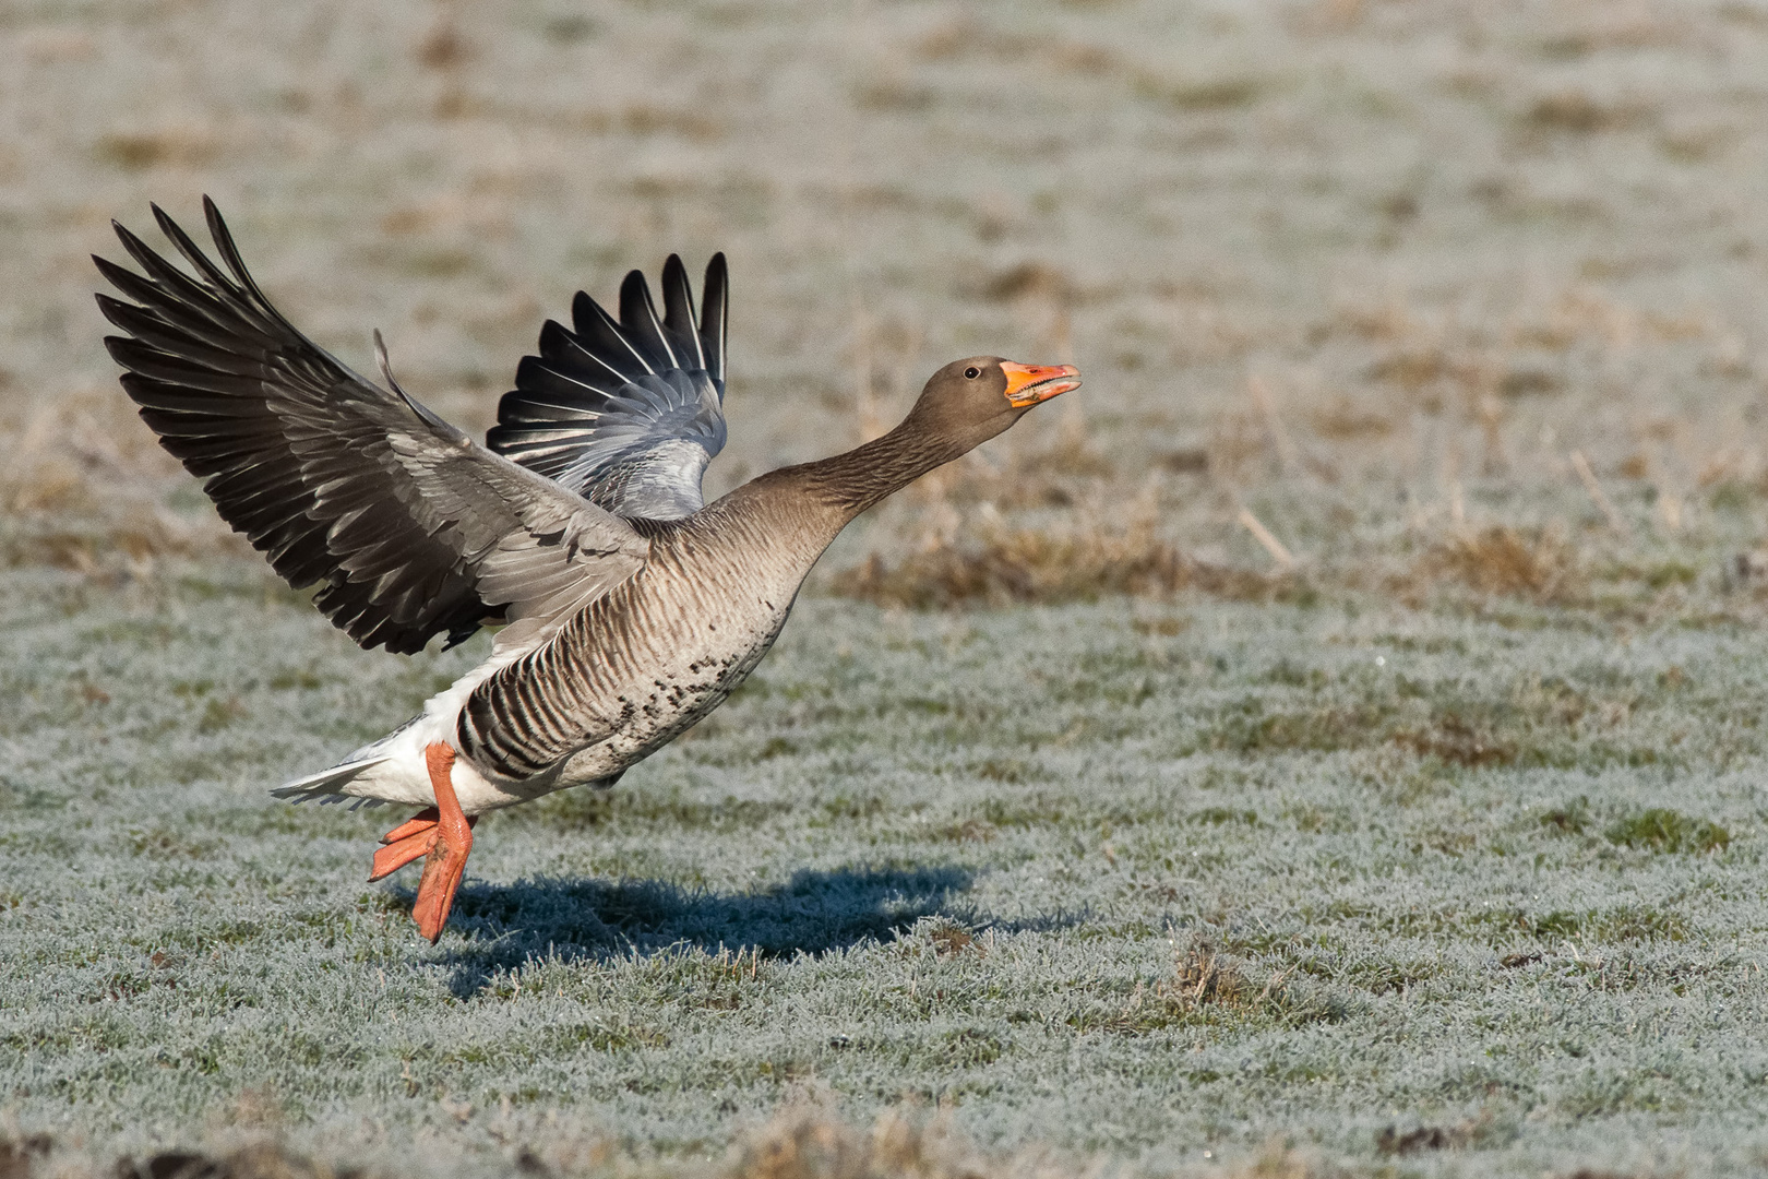
<instances>
[{"instance_id":1,"label":"blurred tan and brown dry grass behind the goose's upper body","mask_svg":"<svg viewBox=\"0 0 1768 1179\"><path fill-rule=\"evenodd\" d=\"M239 551L87 260L209 193L295 323L474 430L573 292L727 251L713 493L958 355L1082 368L824 589L1680 608L1763 567L1764 156L1745 0L14 0L0 555Z\"/></svg>"}]
</instances>

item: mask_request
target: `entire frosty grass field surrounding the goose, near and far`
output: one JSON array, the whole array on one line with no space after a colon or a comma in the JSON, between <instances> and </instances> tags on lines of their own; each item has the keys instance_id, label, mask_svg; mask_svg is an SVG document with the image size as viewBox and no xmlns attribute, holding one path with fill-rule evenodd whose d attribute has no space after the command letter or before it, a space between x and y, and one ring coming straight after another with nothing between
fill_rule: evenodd
<instances>
[{"instance_id":1,"label":"entire frosty grass field surrounding the goose, near and far","mask_svg":"<svg viewBox=\"0 0 1768 1179\"><path fill-rule=\"evenodd\" d=\"M205 191L474 428L728 251L714 491L955 355L1087 385L431 949L401 815L265 790L486 640L355 650L99 345ZM0 9L0 1175L1759 1170L1764 258L1740 0Z\"/></svg>"}]
</instances>

